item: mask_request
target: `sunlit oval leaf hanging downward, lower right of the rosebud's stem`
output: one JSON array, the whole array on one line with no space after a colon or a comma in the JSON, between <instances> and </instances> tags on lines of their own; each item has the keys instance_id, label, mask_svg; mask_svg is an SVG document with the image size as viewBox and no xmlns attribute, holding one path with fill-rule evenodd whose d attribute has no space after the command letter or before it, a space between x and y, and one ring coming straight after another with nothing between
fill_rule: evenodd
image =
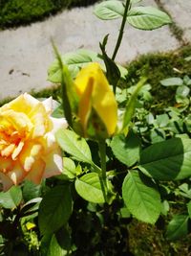
<instances>
[{"instance_id":1,"label":"sunlit oval leaf hanging downward, lower right of the rosebud's stem","mask_svg":"<svg viewBox=\"0 0 191 256\"><path fill-rule=\"evenodd\" d=\"M139 221L155 223L161 211L160 196L156 184L137 171L126 175L122 185L122 197L127 209Z\"/></svg>"}]
</instances>

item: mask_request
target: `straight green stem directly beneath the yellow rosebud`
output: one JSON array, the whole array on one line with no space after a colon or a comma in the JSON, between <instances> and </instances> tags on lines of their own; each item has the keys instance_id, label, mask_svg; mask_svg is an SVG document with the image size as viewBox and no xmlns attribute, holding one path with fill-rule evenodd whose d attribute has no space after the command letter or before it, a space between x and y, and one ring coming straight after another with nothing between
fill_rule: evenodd
<instances>
[{"instance_id":1,"label":"straight green stem directly beneath the yellow rosebud","mask_svg":"<svg viewBox=\"0 0 191 256\"><path fill-rule=\"evenodd\" d=\"M101 173L99 175L101 187L103 191L103 196L105 201L107 202L107 176L106 176L106 144L105 140L98 140L98 148L100 154L100 162L101 162Z\"/></svg>"}]
</instances>

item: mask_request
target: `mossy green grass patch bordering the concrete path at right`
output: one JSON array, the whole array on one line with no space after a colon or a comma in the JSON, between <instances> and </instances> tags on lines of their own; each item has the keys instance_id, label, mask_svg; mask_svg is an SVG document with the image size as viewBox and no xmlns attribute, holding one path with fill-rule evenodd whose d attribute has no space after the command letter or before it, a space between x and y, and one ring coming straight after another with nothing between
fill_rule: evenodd
<instances>
[{"instance_id":1,"label":"mossy green grass patch bordering the concrete path at right","mask_svg":"<svg viewBox=\"0 0 191 256\"><path fill-rule=\"evenodd\" d=\"M183 78L191 76L191 45L184 46L177 51L167 54L149 54L141 56L127 65L127 86L136 84L141 76L148 78L151 84L151 93L154 96L153 105L165 107L174 103L174 94L168 87L162 86L159 81L171 77Z\"/></svg>"}]
</instances>

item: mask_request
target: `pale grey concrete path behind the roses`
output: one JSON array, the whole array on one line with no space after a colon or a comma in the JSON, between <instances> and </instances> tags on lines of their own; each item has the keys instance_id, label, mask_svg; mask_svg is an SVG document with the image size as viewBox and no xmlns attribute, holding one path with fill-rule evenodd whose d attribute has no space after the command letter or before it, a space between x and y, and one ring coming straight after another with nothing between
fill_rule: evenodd
<instances>
[{"instance_id":1,"label":"pale grey concrete path behind the roses","mask_svg":"<svg viewBox=\"0 0 191 256\"><path fill-rule=\"evenodd\" d=\"M176 22L179 22L179 26L185 30L186 40L191 41L191 25L187 22L191 12L190 0L161 1L172 13ZM187 7L182 8L181 2L187 2ZM156 6L154 0L145 0L143 3ZM47 69L54 58L51 37L60 53L64 54L79 48L100 52L98 42L102 41L104 35L109 34L107 52L112 54L116 45L120 20L99 20L93 14L93 9L94 7L91 6L64 11L46 21L34 23L28 27L1 31L0 99L51 86L51 83L46 81ZM181 21L181 15L186 22ZM171 35L168 26L152 32L139 31L126 26L117 61L125 63L141 54L166 52L178 47L180 47L180 42L174 35Z\"/></svg>"}]
</instances>

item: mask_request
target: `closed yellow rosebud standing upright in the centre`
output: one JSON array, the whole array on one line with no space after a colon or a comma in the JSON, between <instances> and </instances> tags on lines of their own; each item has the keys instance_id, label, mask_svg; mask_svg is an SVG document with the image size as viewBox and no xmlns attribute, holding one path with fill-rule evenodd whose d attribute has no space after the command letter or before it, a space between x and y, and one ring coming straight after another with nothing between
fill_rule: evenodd
<instances>
[{"instance_id":1,"label":"closed yellow rosebud standing upright in the centre","mask_svg":"<svg viewBox=\"0 0 191 256\"><path fill-rule=\"evenodd\" d=\"M112 135L117 128L117 101L99 64L90 63L82 68L74 84L79 97L78 117L85 136L91 129L97 135L105 132L105 137Z\"/></svg>"}]
</instances>

